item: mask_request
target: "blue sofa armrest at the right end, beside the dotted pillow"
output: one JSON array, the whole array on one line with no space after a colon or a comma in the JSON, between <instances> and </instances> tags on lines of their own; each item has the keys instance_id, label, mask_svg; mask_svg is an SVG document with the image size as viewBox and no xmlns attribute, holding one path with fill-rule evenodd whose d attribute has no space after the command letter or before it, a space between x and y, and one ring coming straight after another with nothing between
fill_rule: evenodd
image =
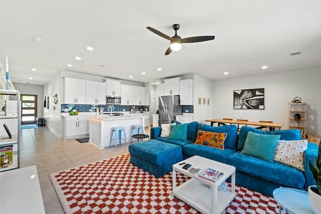
<instances>
[{"instance_id":1,"label":"blue sofa armrest at the right end, beside the dotted pillow","mask_svg":"<svg viewBox=\"0 0 321 214\"><path fill-rule=\"evenodd\" d=\"M313 157L317 157L318 146L315 143L307 143L307 149L304 151L304 177L305 184L304 188L307 191L310 185L315 185L315 180L312 176L312 173L309 169L309 160L312 161L312 153Z\"/></svg>"}]
</instances>

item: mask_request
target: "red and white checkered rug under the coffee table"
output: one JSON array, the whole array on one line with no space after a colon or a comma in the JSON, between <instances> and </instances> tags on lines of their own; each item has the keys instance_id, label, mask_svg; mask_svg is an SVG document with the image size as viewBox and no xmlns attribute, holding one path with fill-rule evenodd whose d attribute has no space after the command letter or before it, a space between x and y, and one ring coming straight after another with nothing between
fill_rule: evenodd
<instances>
[{"instance_id":1,"label":"red and white checkered rug under the coffee table","mask_svg":"<svg viewBox=\"0 0 321 214\"><path fill-rule=\"evenodd\" d=\"M50 174L66 213L200 213L174 197L172 172L157 178L129 162L130 154ZM177 183L189 178L178 173ZM278 213L276 201L236 186L223 213Z\"/></svg>"}]
</instances>

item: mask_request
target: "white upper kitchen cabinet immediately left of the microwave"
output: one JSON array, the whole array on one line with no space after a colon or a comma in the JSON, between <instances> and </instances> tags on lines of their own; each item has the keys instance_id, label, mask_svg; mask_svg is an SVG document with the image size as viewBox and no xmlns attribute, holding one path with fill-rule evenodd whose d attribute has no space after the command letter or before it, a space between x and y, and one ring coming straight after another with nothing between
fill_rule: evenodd
<instances>
[{"instance_id":1,"label":"white upper kitchen cabinet immediately left of the microwave","mask_svg":"<svg viewBox=\"0 0 321 214\"><path fill-rule=\"evenodd\" d=\"M106 104L106 84L86 80L86 104Z\"/></svg>"}]
</instances>

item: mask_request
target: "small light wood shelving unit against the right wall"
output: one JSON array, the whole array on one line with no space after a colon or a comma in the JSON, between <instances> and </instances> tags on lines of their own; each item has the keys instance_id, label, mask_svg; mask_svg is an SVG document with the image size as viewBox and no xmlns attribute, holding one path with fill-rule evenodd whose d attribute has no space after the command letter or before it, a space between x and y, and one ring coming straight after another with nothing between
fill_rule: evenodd
<instances>
[{"instance_id":1,"label":"small light wood shelving unit against the right wall","mask_svg":"<svg viewBox=\"0 0 321 214\"><path fill-rule=\"evenodd\" d=\"M300 114L300 123L297 124L294 118L295 114ZM306 136L306 103L289 103L289 129L299 129L302 139Z\"/></svg>"}]
</instances>

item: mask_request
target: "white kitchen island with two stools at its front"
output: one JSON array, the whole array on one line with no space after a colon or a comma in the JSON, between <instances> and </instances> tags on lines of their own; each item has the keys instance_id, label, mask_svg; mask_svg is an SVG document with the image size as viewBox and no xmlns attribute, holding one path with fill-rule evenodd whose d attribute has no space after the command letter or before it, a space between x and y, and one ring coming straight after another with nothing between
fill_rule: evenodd
<instances>
[{"instance_id":1,"label":"white kitchen island with two stools at its front","mask_svg":"<svg viewBox=\"0 0 321 214\"><path fill-rule=\"evenodd\" d=\"M125 128L126 142L129 142L131 125L143 125L144 127L144 119L146 117L137 113L113 117L108 115L89 117L89 143L100 149L109 146L111 128L115 126ZM115 140L111 142L111 145L115 145Z\"/></svg>"}]
</instances>

